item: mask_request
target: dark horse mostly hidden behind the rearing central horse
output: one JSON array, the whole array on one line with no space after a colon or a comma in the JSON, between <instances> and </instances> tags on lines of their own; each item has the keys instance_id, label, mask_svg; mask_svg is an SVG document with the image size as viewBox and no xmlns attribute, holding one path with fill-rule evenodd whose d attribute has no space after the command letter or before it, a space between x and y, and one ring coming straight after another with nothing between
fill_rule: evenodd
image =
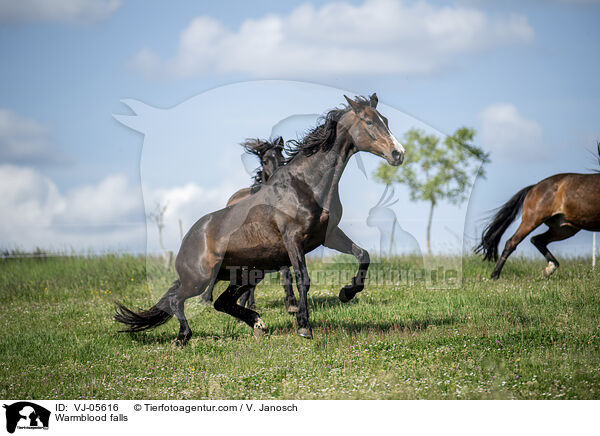
<instances>
[{"instance_id":1,"label":"dark horse mostly hidden behind the rearing central horse","mask_svg":"<svg viewBox=\"0 0 600 436\"><path fill-rule=\"evenodd\" d=\"M284 141L280 136L273 141L264 141L260 139L248 139L242 143L242 147L247 153L256 156L260 162L260 168L254 176L254 183L250 188L244 188L233 194L227 201L227 206L233 206L239 203L244 198L249 197L252 194L258 192L263 183L271 178L275 170L285 164L285 157L283 156ZM283 281L283 289L285 291L284 304L288 313L298 312L298 302L294 296L294 289L292 288L292 274L290 269L285 266L281 269L281 278ZM251 288L246 291L239 299L239 303L243 307L249 309L255 309L254 289ZM207 289L202 298L204 301L212 301L212 289Z\"/></svg>"}]
</instances>

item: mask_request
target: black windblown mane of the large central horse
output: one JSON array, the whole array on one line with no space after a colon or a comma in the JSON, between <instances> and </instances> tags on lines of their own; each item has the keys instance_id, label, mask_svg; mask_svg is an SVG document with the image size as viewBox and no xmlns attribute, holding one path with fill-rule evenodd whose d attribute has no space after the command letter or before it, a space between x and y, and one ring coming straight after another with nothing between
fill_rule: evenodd
<instances>
[{"instance_id":1,"label":"black windblown mane of the large central horse","mask_svg":"<svg viewBox=\"0 0 600 436\"><path fill-rule=\"evenodd\" d=\"M370 106L370 100L365 97L358 96L354 98L354 102L359 107ZM285 152L288 157L285 159L284 164L287 165L299 154L311 156L319 150L330 150L335 142L337 123L349 110L351 109L348 105L341 108L334 108L322 116L319 119L319 124L306 132L302 139L290 139L287 141Z\"/></svg>"}]
</instances>

